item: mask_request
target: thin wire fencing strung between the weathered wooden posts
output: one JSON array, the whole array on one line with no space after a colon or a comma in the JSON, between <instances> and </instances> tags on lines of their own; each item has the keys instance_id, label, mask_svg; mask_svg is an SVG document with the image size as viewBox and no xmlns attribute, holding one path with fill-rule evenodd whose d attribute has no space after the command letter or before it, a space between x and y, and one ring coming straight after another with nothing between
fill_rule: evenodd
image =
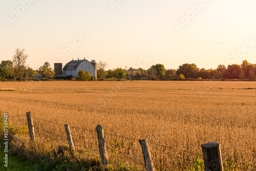
<instances>
[{"instance_id":1,"label":"thin wire fencing strung between the weathered wooden posts","mask_svg":"<svg viewBox=\"0 0 256 171\"><path fill-rule=\"evenodd\" d=\"M20 115L8 118L10 118L11 123L16 127L27 127L26 116ZM64 127L65 123L33 117L33 124L37 138L57 142L57 144L68 144ZM86 153L90 156L98 157L97 131L88 129L85 126L69 126L74 146L85 149ZM111 133L104 133L104 138L110 163L134 166L138 170L143 170L144 159L139 139ZM148 141L148 144L150 145L152 160L157 170L189 170L191 166L198 162L195 160L196 154L201 154L198 156L201 161L203 160L202 152L191 152L173 146L159 144L154 141ZM227 170L256 170L255 162L238 162L232 159L224 159L223 165Z\"/></svg>"}]
</instances>

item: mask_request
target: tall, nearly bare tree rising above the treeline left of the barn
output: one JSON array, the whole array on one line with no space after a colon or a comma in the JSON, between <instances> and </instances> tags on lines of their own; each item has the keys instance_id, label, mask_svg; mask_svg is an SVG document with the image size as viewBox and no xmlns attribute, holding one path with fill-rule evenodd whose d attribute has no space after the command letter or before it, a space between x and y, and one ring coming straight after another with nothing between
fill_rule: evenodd
<instances>
[{"instance_id":1,"label":"tall, nearly bare tree rising above the treeline left of the barn","mask_svg":"<svg viewBox=\"0 0 256 171\"><path fill-rule=\"evenodd\" d=\"M24 72L23 66L25 66L27 58L28 58L28 54L25 54L25 49L20 50L19 48L15 50L15 54L12 57L13 66L17 72L19 81Z\"/></svg>"}]
</instances>

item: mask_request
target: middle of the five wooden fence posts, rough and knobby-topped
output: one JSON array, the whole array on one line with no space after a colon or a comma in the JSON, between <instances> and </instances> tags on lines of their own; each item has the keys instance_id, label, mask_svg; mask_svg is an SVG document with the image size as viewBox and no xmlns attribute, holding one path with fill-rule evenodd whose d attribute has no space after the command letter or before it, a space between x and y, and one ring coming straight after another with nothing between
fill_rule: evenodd
<instances>
[{"instance_id":1,"label":"middle of the five wooden fence posts, rough and knobby-topped","mask_svg":"<svg viewBox=\"0 0 256 171\"><path fill-rule=\"evenodd\" d=\"M96 126L97 136L98 136L98 143L99 143L99 153L101 157L101 162L103 165L109 164L108 162L108 152L106 152L105 147L105 139L104 139L104 133L103 128L101 125Z\"/></svg>"}]
</instances>

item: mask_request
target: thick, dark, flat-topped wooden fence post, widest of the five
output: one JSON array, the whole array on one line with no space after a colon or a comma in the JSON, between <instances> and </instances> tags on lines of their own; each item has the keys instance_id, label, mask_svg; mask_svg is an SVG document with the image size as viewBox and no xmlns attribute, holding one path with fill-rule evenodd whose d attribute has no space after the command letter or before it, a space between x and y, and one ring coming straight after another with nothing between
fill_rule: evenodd
<instances>
[{"instance_id":1,"label":"thick, dark, flat-topped wooden fence post, widest of the five","mask_svg":"<svg viewBox=\"0 0 256 171\"><path fill-rule=\"evenodd\" d=\"M202 144L205 171L223 171L221 144L218 142L208 142Z\"/></svg>"}]
</instances>

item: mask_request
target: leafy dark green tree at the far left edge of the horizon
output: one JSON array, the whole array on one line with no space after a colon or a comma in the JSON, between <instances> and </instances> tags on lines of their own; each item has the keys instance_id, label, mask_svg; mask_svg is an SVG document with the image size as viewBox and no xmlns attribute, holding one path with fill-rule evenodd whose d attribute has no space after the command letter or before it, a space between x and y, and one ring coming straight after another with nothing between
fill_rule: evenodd
<instances>
[{"instance_id":1,"label":"leafy dark green tree at the far left edge of the horizon","mask_svg":"<svg viewBox=\"0 0 256 171\"><path fill-rule=\"evenodd\" d=\"M0 79L13 77L13 63L10 60L2 60L0 63Z\"/></svg>"}]
</instances>

